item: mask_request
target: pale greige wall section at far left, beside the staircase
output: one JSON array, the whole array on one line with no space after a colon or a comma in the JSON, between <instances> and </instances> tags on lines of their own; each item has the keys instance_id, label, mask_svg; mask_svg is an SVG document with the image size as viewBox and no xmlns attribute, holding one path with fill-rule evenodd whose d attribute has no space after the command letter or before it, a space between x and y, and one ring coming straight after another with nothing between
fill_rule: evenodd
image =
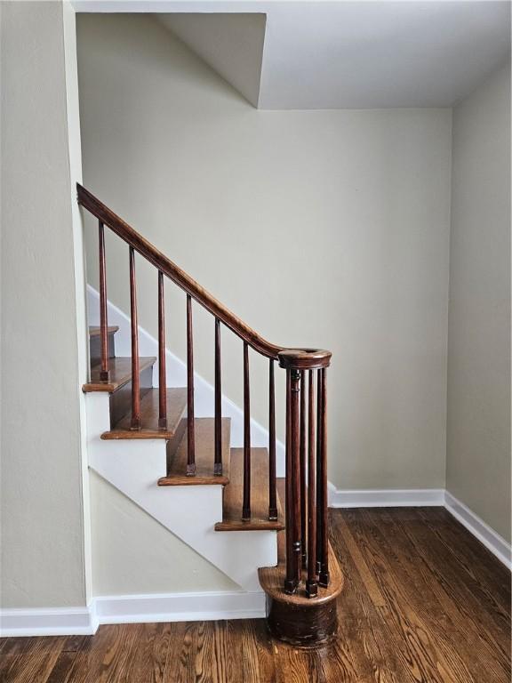
<instances>
[{"instance_id":1,"label":"pale greige wall section at far left, beside the staircase","mask_svg":"<svg viewBox=\"0 0 512 683\"><path fill-rule=\"evenodd\" d=\"M2 607L87 600L73 20L2 3Z\"/></svg>"}]
</instances>

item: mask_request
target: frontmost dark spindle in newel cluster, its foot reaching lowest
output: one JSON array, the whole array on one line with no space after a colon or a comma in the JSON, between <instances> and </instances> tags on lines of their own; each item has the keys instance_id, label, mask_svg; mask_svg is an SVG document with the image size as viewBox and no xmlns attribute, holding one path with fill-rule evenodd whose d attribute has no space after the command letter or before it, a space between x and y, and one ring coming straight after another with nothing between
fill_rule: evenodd
<instances>
[{"instance_id":1,"label":"frontmost dark spindle in newel cluster, its foot reaching lowest","mask_svg":"<svg viewBox=\"0 0 512 683\"><path fill-rule=\"evenodd\" d=\"M316 583L316 458L315 458L315 380L308 371L308 580L306 595L314 598Z\"/></svg>"}]
</instances>

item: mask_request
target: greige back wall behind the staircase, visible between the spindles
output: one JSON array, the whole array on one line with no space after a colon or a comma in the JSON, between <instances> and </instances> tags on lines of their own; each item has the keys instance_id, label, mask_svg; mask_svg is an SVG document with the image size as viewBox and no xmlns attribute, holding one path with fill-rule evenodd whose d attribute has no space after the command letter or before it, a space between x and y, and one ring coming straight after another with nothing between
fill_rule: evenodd
<instances>
[{"instance_id":1,"label":"greige back wall behind the staircase, visible between the spindles","mask_svg":"<svg viewBox=\"0 0 512 683\"><path fill-rule=\"evenodd\" d=\"M270 341L332 350L335 486L443 487L451 110L259 111L151 17L77 25L85 185ZM128 250L107 247L108 297L128 311ZM156 273L137 268L155 334ZM174 290L167 342L184 358ZM212 318L194 314L196 370L212 382ZM242 353L225 331L238 405ZM267 363L251 366L266 423Z\"/></svg>"}]
</instances>

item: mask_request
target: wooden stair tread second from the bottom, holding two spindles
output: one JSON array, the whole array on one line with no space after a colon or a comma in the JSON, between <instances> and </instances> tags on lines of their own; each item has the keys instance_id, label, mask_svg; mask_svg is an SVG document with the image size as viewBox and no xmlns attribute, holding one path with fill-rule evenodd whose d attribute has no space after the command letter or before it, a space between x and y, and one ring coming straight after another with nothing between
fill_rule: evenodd
<instances>
[{"instance_id":1,"label":"wooden stair tread second from the bottom, holding two spindles","mask_svg":"<svg viewBox=\"0 0 512 683\"><path fill-rule=\"evenodd\" d=\"M244 449L231 449L229 484L224 489L222 521L215 531L279 531L284 515L277 496L277 520L268 520L268 450L251 449L251 519L242 521L244 491Z\"/></svg>"}]
</instances>

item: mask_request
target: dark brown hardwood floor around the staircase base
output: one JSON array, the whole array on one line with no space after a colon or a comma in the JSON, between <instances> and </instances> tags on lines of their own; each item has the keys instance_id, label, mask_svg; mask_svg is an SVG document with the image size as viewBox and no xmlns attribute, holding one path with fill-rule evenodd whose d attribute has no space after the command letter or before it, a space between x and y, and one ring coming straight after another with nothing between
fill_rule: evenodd
<instances>
[{"instance_id":1,"label":"dark brown hardwood floor around the staircase base","mask_svg":"<svg viewBox=\"0 0 512 683\"><path fill-rule=\"evenodd\" d=\"M441 508L331 510L339 633L298 650L263 620L0 640L2 683L509 683L510 575Z\"/></svg>"}]
</instances>

